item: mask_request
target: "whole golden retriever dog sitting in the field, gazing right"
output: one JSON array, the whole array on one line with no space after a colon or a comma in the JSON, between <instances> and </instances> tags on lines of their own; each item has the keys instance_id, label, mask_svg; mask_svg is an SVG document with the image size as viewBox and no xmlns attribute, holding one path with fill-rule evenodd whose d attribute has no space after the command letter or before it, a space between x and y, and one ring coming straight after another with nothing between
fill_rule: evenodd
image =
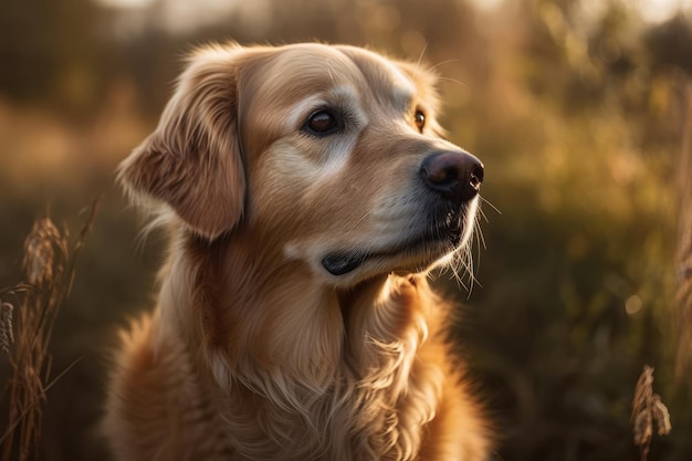
<instances>
[{"instance_id":1,"label":"whole golden retriever dog sitting in the field, gazing right","mask_svg":"<svg viewBox=\"0 0 692 461\"><path fill-rule=\"evenodd\" d=\"M119 167L171 241L115 355L116 459L486 458L427 281L465 261L483 165L442 137L434 84L354 46L192 53Z\"/></svg>"}]
</instances>

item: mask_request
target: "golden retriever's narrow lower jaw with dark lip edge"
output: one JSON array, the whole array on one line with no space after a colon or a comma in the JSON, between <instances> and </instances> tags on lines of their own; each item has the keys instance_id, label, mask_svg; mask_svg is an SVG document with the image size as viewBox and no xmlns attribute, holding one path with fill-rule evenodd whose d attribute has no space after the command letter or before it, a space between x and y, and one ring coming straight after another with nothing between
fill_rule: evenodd
<instances>
[{"instance_id":1,"label":"golden retriever's narrow lower jaw with dark lip edge","mask_svg":"<svg viewBox=\"0 0 692 461\"><path fill-rule=\"evenodd\" d=\"M423 272L466 240L464 226L445 226L377 249L338 250L322 259L331 275L375 276L390 272Z\"/></svg>"}]
</instances>

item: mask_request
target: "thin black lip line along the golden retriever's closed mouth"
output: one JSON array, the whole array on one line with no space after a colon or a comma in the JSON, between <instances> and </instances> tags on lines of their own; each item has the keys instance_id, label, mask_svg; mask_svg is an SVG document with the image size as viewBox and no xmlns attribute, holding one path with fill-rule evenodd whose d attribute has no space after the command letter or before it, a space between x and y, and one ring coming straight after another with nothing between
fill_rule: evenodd
<instances>
[{"instance_id":1,"label":"thin black lip line along the golden retriever's closed mouth","mask_svg":"<svg viewBox=\"0 0 692 461\"><path fill-rule=\"evenodd\" d=\"M371 259L388 259L399 254L424 253L431 245L443 243L458 247L463 235L463 223L457 213L448 214L444 224L428 229L401 243L376 250L340 250L322 259L322 266L332 275L345 275Z\"/></svg>"}]
</instances>

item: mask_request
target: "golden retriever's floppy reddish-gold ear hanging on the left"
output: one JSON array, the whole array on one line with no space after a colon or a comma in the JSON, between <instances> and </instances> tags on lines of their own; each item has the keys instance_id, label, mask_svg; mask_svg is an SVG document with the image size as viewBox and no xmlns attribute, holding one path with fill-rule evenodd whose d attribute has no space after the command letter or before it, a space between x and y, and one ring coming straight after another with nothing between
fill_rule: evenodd
<instances>
[{"instance_id":1,"label":"golden retriever's floppy reddish-gold ear hanging on the left","mask_svg":"<svg viewBox=\"0 0 692 461\"><path fill-rule=\"evenodd\" d=\"M240 46L195 53L156 130L118 168L138 201L168 203L213 239L243 212L245 177L238 137Z\"/></svg>"}]
</instances>

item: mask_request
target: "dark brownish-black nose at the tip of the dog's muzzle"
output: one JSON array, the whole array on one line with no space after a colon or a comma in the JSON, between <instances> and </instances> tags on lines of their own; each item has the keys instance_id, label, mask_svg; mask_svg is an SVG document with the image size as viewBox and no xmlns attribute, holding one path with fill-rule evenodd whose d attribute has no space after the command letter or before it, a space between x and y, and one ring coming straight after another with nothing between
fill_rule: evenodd
<instances>
[{"instance_id":1,"label":"dark brownish-black nose at the tip of the dog's muzzle","mask_svg":"<svg viewBox=\"0 0 692 461\"><path fill-rule=\"evenodd\" d=\"M483 182L483 164L464 151L431 154L423 159L420 172L428 188L460 203L474 198Z\"/></svg>"}]
</instances>

